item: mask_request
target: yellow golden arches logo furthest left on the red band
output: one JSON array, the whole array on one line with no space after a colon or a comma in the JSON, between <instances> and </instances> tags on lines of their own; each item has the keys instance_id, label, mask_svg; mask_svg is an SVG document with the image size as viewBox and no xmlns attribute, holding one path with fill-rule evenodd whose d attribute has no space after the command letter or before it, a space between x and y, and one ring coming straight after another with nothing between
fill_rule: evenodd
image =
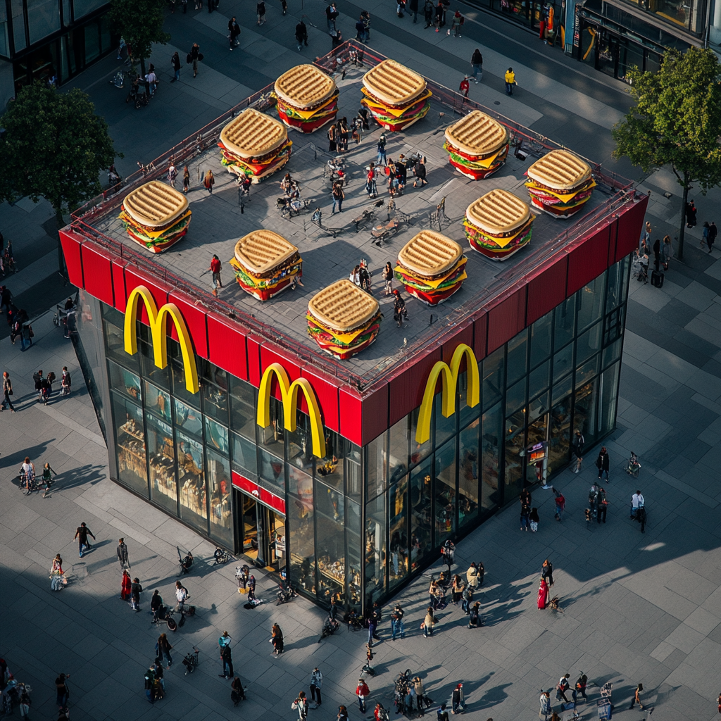
<instances>
[{"instance_id":1,"label":"yellow golden arches logo furthest left on the red band","mask_svg":"<svg viewBox=\"0 0 721 721\"><path fill-rule=\"evenodd\" d=\"M125 306L125 324L123 335L125 336L125 353L135 355L138 352L138 334L136 320L138 319L138 304L143 301L150 323L150 334L153 340L153 358L158 368L165 368L168 364L167 332L165 329L165 316L170 316L175 325L180 342L182 362L185 367L185 387L190 393L197 393L198 367L195 365L195 353L193 353L193 341L190 340L190 333L187 331L185 319L180 309L174 303L166 303L157 309L151 292L145 286L133 288L128 296L128 305Z\"/></svg>"}]
</instances>

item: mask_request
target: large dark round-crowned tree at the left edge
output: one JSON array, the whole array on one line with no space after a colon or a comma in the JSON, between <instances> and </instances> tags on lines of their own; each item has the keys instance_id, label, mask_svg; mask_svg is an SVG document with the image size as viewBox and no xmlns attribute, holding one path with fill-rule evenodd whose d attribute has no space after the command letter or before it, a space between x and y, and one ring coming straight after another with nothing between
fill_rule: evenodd
<instances>
[{"instance_id":1,"label":"large dark round-crowned tree at the left edge","mask_svg":"<svg viewBox=\"0 0 721 721\"><path fill-rule=\"evenodd\" d=\"M99 195L100 171L116 153L107 123L78 88L58 92L39 82L26 85L0 117L0 202L25 195L53 206L58 229L63 213ZM122 155L117 154L122 157ZM58 236L58 262L63 254Z\"/></svg>"}]
</instances>

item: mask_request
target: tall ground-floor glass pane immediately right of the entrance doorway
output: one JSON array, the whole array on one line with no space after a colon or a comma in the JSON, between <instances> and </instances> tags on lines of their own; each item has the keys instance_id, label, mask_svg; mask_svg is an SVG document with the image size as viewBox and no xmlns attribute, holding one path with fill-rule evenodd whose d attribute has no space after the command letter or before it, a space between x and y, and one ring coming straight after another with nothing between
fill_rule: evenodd
<instances>
[{"instance_id":1,"label":"tall ground-floor glass pane immediately right of the entrance doorway","mask_svg":"<svg viewBox=\"0 0 721 721\"><path fill-rule=\"evenodd\" d=\"M287 528L290 535L291 580L315 596L315 531L313 523L313 479L300 473L288 487Z\"/></svg>"}]
</instances>

